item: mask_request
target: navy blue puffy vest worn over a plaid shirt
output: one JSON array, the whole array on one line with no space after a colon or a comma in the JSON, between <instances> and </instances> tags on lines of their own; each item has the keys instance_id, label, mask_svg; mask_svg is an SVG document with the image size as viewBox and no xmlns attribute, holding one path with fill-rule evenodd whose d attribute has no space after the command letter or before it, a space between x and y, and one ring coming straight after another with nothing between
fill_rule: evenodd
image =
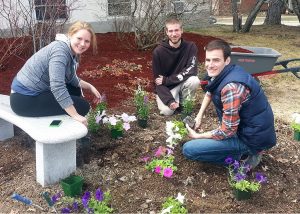
<instances>
[{"instance_id":1,"label":"navy blue puffy vest worn over a plaid shirt","mask_svg":"<svg viewBox=\"0 0 300 214\"><path fill-rule=\"evenodd\" d=\"M221 90L232 82L244 84L250 89L250 98L242 104L239 111L237 136L253 153L273 147L276 144L276 134L271 106L259 83L238 65L227 65L206 87L212 93L219 120L222 121L223 114Z\"/></svg>"}]
</instances>

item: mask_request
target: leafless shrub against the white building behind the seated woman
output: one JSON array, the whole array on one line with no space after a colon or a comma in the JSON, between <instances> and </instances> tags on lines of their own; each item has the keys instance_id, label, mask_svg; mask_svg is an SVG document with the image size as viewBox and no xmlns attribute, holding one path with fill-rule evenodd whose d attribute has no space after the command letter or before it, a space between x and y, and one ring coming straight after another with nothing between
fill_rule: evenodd
<instances>
[{"instance_id":1,"label":"leafless shrub against the white building behind the seated woman","mask_svg":"<svg viewBox=\"0 0 300 214\"><path fill-rule=\"evenodd\" d=\"M1 0L0 17L8 23L7 36L31 37L36 52L62 31L77 1Z\"/></svg>"}]
</instances>

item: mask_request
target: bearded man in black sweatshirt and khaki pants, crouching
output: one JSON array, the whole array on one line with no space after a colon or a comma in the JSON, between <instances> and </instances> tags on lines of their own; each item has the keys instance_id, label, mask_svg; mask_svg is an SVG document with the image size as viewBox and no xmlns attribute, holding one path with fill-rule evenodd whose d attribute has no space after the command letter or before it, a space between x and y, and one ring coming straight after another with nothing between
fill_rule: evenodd
<instances>
[{"instance_id":1,"label":"bearded man in black sweatshirt and khaki pants, crouching","mask_svg":"<svg viewBox=\"0 0 300 214\"><path fill-rule=\"evenodd\" d=\"M158 109L163 115L172 115L187 96L195 96L199 87L198 49L195 43L182 39L179 20L169 19L165 27L168 40L154 49L152 71Z\"/></svg>"}]
</instances>

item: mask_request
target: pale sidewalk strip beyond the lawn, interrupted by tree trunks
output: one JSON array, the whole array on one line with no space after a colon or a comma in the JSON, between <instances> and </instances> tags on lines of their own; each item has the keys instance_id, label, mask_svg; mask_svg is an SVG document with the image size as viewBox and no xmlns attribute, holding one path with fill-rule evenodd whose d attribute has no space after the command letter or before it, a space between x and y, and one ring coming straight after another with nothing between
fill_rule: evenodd
<instances>
[{"instance_id":1,"label":"pale sidewalk strip beyond the lawn, interrupted by tree trunks","mask_svg":"<svg viewBox=\"0 0 300 214\"><path fill-rule=\"evenodd\" d=\"M232 17L215 16L215 18L217 19L217 22L215 24L232 25ZM245 23L246 19L247 16L242 17L243 24ZM258 16L256 17L253 25L262 25L264 23L264 20L265 20L264 16ZM297 16L291 16L291 15L282 15L281 24L288 25L288 26L300 26Z\"/></svg>"}]
</instances>

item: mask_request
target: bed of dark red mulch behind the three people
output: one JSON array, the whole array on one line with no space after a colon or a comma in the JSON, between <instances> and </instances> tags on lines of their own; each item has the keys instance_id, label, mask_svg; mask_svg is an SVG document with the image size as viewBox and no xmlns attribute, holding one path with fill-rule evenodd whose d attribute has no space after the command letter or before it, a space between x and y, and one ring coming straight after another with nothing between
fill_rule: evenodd
<instances>
[{"instance_id":1,"label":"bed of dark red mulch behind the three people","mask_svg":"<svg viewBox=\"0 0 300 214\"><path fill-rule=\"evenodd\" d=\"M184 33L183 38L195 42L199 50L199 60L203 62L203 48L214 38L193 33ZM97 55L93 55L91 50L82 55L78 75L92 83L100 93L106 94L109 107L116 107L121 100L128 98L132 91L130 89L138 81L142 81L147 86L147 90L153 90L152 50L134 49L132 36L121 41L116 33L97 34L97 42ZM2 68L0 72L1 94L9 94L13 77L28 59L28 51L25 52L27 54L19 53L12 57L10 63ZM85 95L88 100L91 100L90 94L85 93Z\"/></svg>"}]
</instances>

